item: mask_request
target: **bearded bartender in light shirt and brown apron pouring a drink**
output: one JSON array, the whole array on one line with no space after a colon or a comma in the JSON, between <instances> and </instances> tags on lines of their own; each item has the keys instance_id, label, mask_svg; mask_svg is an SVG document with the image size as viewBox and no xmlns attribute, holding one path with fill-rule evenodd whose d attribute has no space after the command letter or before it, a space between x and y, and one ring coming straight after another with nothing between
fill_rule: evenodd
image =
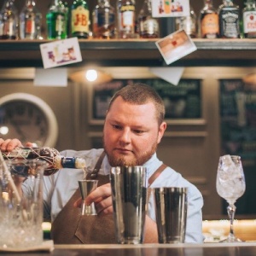
<instances>
[{"instance_id":1,"label":"bearded bartender in light shirt and brown apron pouring a drink","mask_svg":"<svg viewBox=\"0 0 256 256\"><path fill-rule=\"evenodd\" d=\"M52 222L55 243L116 243L109 172L111 166L145 166L150 187L188 187L188 217L185 242L202 242L201 193L171 167L157 158L156 149L166 131L165 107L160 96L146 84L126 85L112 98L104 128L104 149L62 151L63 156L84 158L88 178L99 180L86 198L94 202L97 216L81 216L78 180L83 170L62 169L44 177L44 218ZM22 146L17 139L0 139L2 151ZM26 143L32 147L32 143ZM26 182L25 182L26 183ZM149 182L148 182L149 184ZM158 242L154 201L148 201L144 242Z\"/></svg>"}]
</instances>

